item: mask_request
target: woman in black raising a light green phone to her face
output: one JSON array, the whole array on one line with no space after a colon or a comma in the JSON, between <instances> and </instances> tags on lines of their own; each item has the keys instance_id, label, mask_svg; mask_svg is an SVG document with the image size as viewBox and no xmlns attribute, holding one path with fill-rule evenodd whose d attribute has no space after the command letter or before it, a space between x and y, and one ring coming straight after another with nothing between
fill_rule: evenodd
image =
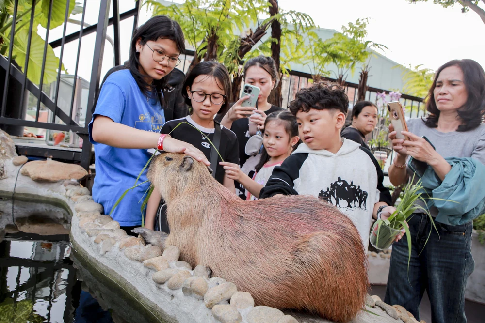
<instances>
[{"instance_id":1,"label":"woman in black raising a light green phone to her face","mask_svg":"<svg viewBox=\"0 0 485 323\"><path fill-rule=\"evenodd\" d=\"M278 71L275 61L267 56L258 56L249 59L244 64L243 80L244 83L259 88L257 107L242 106L242 102L249 98L247 95L242 96L229 109L226 115L223 116L221 124L236 134L239 142L239 165L241 166L241 170L252 178L256 165L259 162L260 154L251 156L245 152L247 141L254 135L254 133L250 133L249 131L249 123L253 123L256 127L259 126L259 130L263 130L266 116L275 111L283 110L268 102L271 90L275 88L278 82ZM244 187L239 183L235 183L235 185L236 194L242 200L246 200L246 190Z\"/></svg>"}]
</instances>

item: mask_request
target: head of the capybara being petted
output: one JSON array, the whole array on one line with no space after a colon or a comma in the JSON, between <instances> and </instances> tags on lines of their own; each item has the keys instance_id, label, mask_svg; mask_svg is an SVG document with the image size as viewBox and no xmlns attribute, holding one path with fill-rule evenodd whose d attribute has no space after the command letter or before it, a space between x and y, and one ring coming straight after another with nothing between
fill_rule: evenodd
<instances>
[{"instance_id":1,"label":"head of the capybara being petted","mask_svg":"<svg viewBox=\"0 0 485 323\"><path fill-rule=\"evenodd\" d=\"M207 187L214 180L211 171L204 163L186 154L162 153L153 158L147 176L168 201L187 190Z\"/></svg>"}]
</instances>

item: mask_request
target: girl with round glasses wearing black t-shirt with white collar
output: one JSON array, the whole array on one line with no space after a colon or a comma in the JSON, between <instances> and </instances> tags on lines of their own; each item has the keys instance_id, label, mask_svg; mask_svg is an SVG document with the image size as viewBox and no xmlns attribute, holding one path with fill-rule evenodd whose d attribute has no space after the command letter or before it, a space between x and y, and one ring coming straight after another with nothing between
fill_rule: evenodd
<instances>
[{"instance_id":1,"label":"girl with round glasses wearing black t-shirt with white collar","mask_svg":"<svg viewBox=\"0 0 485 323\"><path fill-rule=\"evenodd\" d=\"M215 179L229 189L232 194L236 193L234 180L230 179L219 162L239 164L239 145L236 135L224 126L216 124L214 116L217 113L225 113L229 108L231 96L231 80L224 65L215 61L204 61L194 66L187 75L184 83L185 91L182 95L192 114L185 118L172 120L165 123L162 133L172 136L200 149L207 158L210 158L214 150L214 136L216 126L220 127L220 144L213 154L218 157L217 164L212 165L215 171ZM229 193L229 192L228 192ZM154 189L146 208L145 228L154 230L155 215L160 205L160 192Z\"/></svg>"}]
</instances>

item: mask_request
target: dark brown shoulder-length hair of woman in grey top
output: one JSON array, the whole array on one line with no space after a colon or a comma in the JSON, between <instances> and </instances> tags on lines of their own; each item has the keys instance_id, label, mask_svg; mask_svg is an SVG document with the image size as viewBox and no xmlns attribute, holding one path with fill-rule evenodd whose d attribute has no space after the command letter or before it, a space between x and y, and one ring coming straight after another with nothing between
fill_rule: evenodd
<instances>
[{"instance_id":1,"label":"dark brown shoulder-length hair of woman in grey top","mask_svg":"<svg viewBox=\"0 0 485 323\"><path fill-rule=\"evenodd\" d=\"M457 111L458 117L463 124L459 125L456 131L475 129L482 123L485 114L485 72L479 63L469 59L453 60L438 68L433 85L431 85L427 96L426 110L428 111L428 116L425 123L430 128L438 126L439 110L436 107L434 94L436 80L441 71L450 66L458 66L462 70L463 83L468 92L467 102Z\"/></svg>"}]
</instances>

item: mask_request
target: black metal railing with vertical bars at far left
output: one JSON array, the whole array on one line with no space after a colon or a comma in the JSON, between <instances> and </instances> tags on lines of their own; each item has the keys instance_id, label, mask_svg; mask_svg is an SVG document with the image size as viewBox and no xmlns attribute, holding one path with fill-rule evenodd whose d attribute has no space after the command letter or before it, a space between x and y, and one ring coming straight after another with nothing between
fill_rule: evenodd
<instances>
[{"instance_id":1,"label":"black metal railing with vertical bars at far left","mask_svg":"<svg viewBox=\"0 0 485 323\"><path fill-rule=\"evenodd\" d=\"M97 18L97 23L91 26L84 27L86 24L85 20L85 10L82 10L82 17L81 17L81 27L79 31L66 34L66 27L67 22L69 20L70 14L70 4L74 3L74 0L67 0L65 6L65 17L63 23L63 33L62 37L55 40L49 39L49 27L52 20L52 7L55 3L55 0L49 1L49 13L47 15L47 28L45 34L45 44L44 44L44 53L42 58L42 66L40 72L40 82L39 84L35 84L27 78L28 69L29 69L29 62L31 62L31 41L32 41L32 32L35 32L37 28L34 29L33 21L35 13L41 10L40 7L40 0L33 0L32 7L31 7L31 15L30 15L30 24L28 29L28 38L27 38L27 46L26 46L26 53L25 53L25 62L23 68L20 68L18 62L13 60L13 47L14 41L16 39L16 30L18 25L18 19L21 19L22 15L25 16L25 13L19 13L19 5L18 0L15 0L13 3L13 14L12 14L12 26L15 28L11 28L11 32L9 34L9 46L8 46L8 55L7 57L0 55L0 82L3 81L2 90L0 90L0 101L1 101L1 111L0 111L0 124L2 129L10 133L11 135L22 137L24 127L32 127L32 128L41 128L41 129L49 129L49 130L57 130L63 131L66 133L76 134L82 139L81 148L73 148L67 147L67 149L55 149L55 147L48 147L47 145L27 145L22 146L22 144L18 144L17 148L21 153L26 154L33 154L33 155L52 155L54 158L59 159L67 159L75 162L79 162L82 167L88 169L90 163L90 156L91 156L91 144L88 140L88 123L91 120L91 108L94 105L95 98L97 91L99 89L99 81L101 76L101 66L103 63L103 55L104 55L104 45L107 36L107 29L108 26L113 25L114 30L114 64L119 65L121 62L121 55L120 55L120 30L119 25L120 21L125 20L127 18L133 17L133 30L138 25L138 14L140 9L140 1L133 1L134 8L120 13L120 6L118 0L100 0L99 1L99 14ZM83 9L86 7L87 0L83 0ZM93 2L90 1L89 5L93 5ZM23 8L23 7L22 7ZM113 16L110 18L110 13L113 13ZM18 28L19 29L19 28ZM76 86L77 82L79 82L78 77L78 66L80 60L80 50L81 50L81 41L82 38L86 35L91 33L96 33L96 40L95 40L95 50L93 53L93 64L91 70L91 77L89 80L88 85L88 95L87 95L87 106L79 107L78 102L75 102L75 95L76 95ZM76 56L76 67L74 70L74 77L73 77L73 84L72 84L72 93L70 96L70 105L68 107L68 113L66 113L60 106L59 106L59 94L60 94L60 86L61 82L61 71L62 71L62 62L64 56L64 46L70 42L78 42L78 50ZM6 42L3 40L3 44L5 45ZM60 47L60 56L59 56L59 66L57 69L57 77L55 83L55 88L50 86L50 95L46 93L47 84L44 84L42 80L44 80L44 74L46 70L46 58L47 58L47 51L48 45L52 49L56 49ZM17 46L17 45L16 45ZM64 75L63 75L64 76ZM51 85L51 84L49 84ZM27 91L26 91L27 90ZM33 99L36 100L36 113L34 120L25 120L26 116L26 101L27 97L33 95ZM50 112L49 120L39 121L39 113L42 108L48 109ZM75 119L73 120L73 112L78 111L79 109L85 110L85 120L84 124L80 124ZM22 146L22 147L19 147Z\"/></svg>"}]
</instances>

